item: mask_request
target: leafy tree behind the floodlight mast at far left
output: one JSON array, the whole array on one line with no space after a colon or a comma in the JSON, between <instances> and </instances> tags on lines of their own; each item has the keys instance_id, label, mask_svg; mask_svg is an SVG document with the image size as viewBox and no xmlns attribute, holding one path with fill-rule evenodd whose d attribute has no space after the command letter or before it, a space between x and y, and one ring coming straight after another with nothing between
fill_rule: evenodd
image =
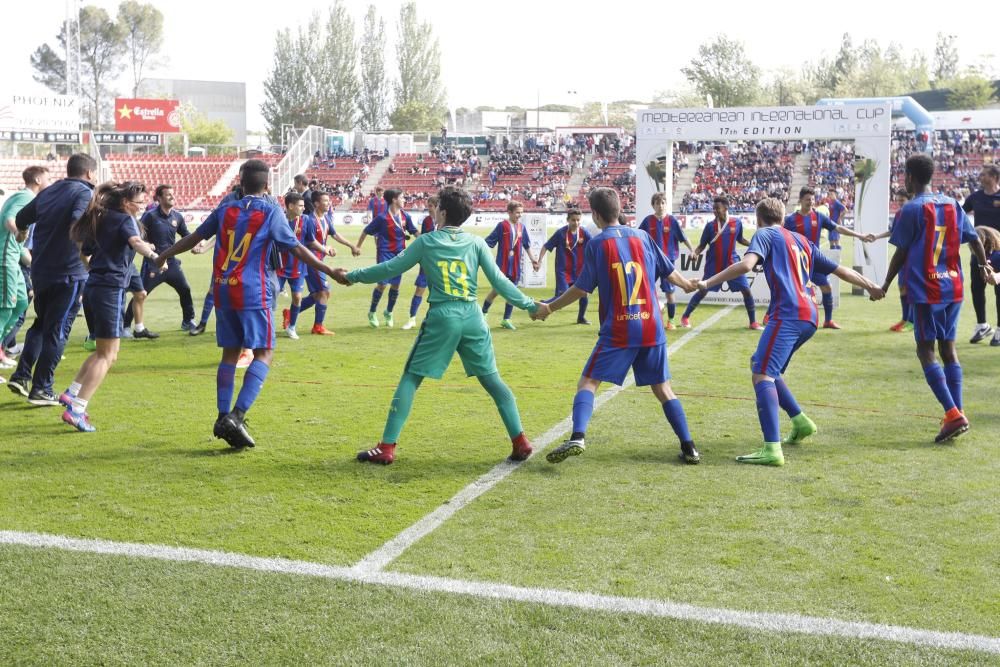
<instances>
[{"instance_id":1,"label":"leafy tree behind the floodlight mast at far left","mask_svg":"<svg viewBox=\"0 0 1000 667\"><path fill-rule=\"evenodd\" d=\"M76 31L75 22L68 26ZM66 48L64 24L56 37L61 49ZM124 69L125 35L119 24L111 20L108 12L88 5L80 10L80 87L86 100L90 129L101 129L101 119L111 116L111 83ZM66 61L58 51L42 44L32 53L31 67L35 81L58 93L66 92Z\"/></svg>"}]
</instances>

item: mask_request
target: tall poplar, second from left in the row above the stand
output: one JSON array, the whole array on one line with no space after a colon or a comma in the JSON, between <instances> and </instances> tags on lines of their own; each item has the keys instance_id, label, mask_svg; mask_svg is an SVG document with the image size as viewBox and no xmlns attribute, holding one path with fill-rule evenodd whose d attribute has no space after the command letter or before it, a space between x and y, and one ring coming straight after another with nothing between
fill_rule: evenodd
<instances>
[{"instance_id":1,"label":"tall poplar, second from left in the row above the stand","mask_svg":"<svg viewBox=\"0 0 1000 667\"><path fill-rule=\"evenodd\" d=\"M308 52L307 52L308 53ZM315 49L311 51L315 55ZM361 86L357 76L354 19L343 0L330 7L322 53L314 64L313 90L323 127L353 129L358 119Z\"/></svg>"}]
</instances>

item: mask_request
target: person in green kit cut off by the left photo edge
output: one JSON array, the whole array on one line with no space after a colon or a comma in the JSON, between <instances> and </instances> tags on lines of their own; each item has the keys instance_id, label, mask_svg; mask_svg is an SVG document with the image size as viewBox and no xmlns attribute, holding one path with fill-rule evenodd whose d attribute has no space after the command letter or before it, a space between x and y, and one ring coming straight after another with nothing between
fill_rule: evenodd
<instances>
[{"instance_id":1,"label":"person in green kit cut off by the left photo edge","mask_svg":"<svg viewBox=\"0 0 1000 667\"><path fill-rule=\"evenodd\" d=\"M21 314L28 309L28 287L21 264L27 266L31 262L31 254L23 245L26 233L19 235L14 218L49 184L49 170L32 166L25 169L21 177L24 178L24 190L8 197L0 209L0 341L7 338ZM12 365L0 349L0 368Z\"/></svg>"}]
</instances>

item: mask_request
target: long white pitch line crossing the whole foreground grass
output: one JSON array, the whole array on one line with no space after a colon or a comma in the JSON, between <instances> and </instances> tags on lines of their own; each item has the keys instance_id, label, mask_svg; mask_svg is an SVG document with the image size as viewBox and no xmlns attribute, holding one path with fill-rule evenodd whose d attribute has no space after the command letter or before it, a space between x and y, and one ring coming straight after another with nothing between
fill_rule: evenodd
<instances>
[{"instance_id":1,"label":"long white pitch line crossing the whole foreground grass","mask_svg":"<svg viewBox=\"0 0 1000 667\"><path fill-rule=\"evenodd\" d=\"M883 640L929 646L938 649L979 651L1000 655L1000 638L971 635L959 632L921 630L898 625L882 625L857 621L842 621L799 614L736 611L711 607L696 607L666 600L625 598L592 593L526 588L479 581L427 577L384 571L360 571L352 567L338 567L286 560L260 558L223 551L187 549L151 544L86 540L58 535L0 531L0 544L60 549L83 553L147 558L179 563L203 563L219 567L241 568L259 572L272 572L335 581L374 584L390 588L403 588L425 593L451 593L476 598L527 602L593 611L633 614L636 616L672 618L698 623L712 623L774 633L797 633L846 639Z\"/></svg>"}]
</instances>

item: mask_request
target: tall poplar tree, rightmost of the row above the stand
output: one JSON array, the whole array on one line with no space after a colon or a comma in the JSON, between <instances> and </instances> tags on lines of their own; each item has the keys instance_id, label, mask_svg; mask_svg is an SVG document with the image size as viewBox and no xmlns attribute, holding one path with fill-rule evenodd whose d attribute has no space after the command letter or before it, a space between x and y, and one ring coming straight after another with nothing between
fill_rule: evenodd
<instances>
[{"instance_id":1,"label":"tall poplar tree, rightmost of the row above the stand","mask_svg":"<svg viewBox=\"0 0 1000 667\"><path fill-rule=\"evenodd\" d=\"M447 108L441 82L441 49L431 24L418 19L417 3L412 1L399 9L396 58L399 61L397 111L405 108L403 117L408 117L416 109L426 108L428 114L443 118ZM393 127L396 128L395 123Z\"/></svg>"}]
</instances>

